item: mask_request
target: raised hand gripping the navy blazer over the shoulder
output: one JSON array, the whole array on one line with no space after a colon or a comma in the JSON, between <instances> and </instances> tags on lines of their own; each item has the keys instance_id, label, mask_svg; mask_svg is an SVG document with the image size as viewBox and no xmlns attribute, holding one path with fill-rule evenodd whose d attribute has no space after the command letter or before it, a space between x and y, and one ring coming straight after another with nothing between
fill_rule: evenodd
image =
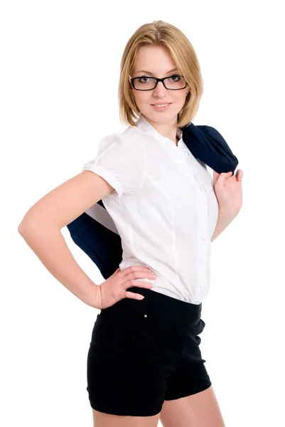
<instances>
[{"instance_id":1,"label":"raised hand gripping the navy blazer over the shoulder","mask_svg":"<svg viewBox=\"0 0 285 427\"><path fill-rule=\"evenodd\" d=\"M226 211L238 212L242 208L242 169L237 173L213 171L213 184L219 207Z\"/></svg>"}]
</instances>

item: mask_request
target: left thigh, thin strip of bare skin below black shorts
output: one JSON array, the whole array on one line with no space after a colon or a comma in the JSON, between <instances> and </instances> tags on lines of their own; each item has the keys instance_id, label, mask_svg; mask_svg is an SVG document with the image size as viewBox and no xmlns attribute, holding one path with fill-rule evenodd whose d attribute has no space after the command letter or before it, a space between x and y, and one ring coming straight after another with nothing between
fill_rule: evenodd
<instances>
[{"instance_id":1,"label":"left thigh, thin strip of bare skin below black shorts","mask_svg":"<svg viewBox=\"0 0 285 427\"><path fill-rule=\"evenodd\" d=\"M159 413L154 416L118 416L95 411L92 408L94 427L157 427Z\"/></svg>"}]
</instances>

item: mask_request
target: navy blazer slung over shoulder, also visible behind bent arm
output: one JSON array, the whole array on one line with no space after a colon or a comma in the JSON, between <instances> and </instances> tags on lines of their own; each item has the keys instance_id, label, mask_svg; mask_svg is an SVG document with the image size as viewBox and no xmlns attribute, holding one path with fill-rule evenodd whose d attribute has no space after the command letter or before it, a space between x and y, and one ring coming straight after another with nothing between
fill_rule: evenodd
<instances>
[{"instance_id":1,"label":"navy blazer slung over shoulder, also visible behind bent arm","mask_svg":"<svg viewBox=\"0 0 285 427\"><path fill-rule=\"evenodd\" d=\"M190 125L180 128L182 139L196 159L218 174L235 174L237 157L214 127ZM97 265L106 280L122 261L122 241L102 200L67 225L72 240Z\"/></svg>"}]
</instances>

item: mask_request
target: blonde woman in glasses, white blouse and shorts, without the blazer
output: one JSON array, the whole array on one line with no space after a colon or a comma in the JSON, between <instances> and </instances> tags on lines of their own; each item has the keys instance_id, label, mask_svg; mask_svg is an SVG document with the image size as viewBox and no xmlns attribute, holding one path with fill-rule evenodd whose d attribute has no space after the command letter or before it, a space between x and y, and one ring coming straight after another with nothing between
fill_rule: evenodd
<instances>
[{"instance_id":1,"label":"blonde woman in glasses, white blouse and shorts, without the blazer","mask_svg":"<svg viewBox=\"0 0 285 427\"><path fill-rule=\"evenodd\" d=\"M225 426L199 334L210 283L210 244L241 207L242 171L211 178L183 143L203 80L193 46L163 21L141 26L124 49L124 132L26 214L19 231L46 268L100 309L87 357L94 426ZM60 229L102 199L122 238L122 262L101 285L77 265ZM76 200L76 204L74 204ZM45 211L49 243L32 221ZM56 262L60 254L62 263Z\"/></svg>"}]
</instances>

